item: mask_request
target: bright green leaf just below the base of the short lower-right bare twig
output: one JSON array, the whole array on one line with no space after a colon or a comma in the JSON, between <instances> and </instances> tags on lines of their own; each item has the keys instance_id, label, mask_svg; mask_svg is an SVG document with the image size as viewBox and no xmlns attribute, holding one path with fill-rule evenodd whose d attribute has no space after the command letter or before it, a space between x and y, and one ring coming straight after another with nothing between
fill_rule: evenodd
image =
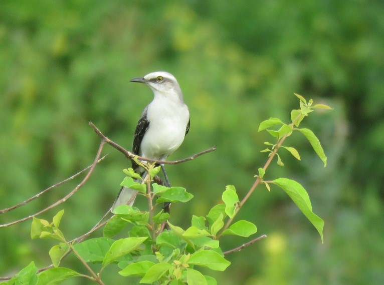
<instances>
[{"instance_id":1,"label":"bright green leaf just below the base of the short lower-right bare twig","mask_svg":"<svg viewBox=\"0 0 384 285\"><path fill-rule=\"evenodd\" d=\"M213 250L202 250L191 254L188 263L219 271L224 271L231 264L231 262Z\"/></svg>"}]
</instances>

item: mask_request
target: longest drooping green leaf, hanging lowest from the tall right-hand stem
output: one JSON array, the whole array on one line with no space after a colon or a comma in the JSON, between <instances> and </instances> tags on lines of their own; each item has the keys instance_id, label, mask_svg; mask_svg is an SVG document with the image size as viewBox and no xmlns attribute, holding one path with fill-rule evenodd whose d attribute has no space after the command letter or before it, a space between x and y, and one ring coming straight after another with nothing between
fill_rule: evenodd
<instances>
[{"instance_id":1,"label":"longest drooping green leaf, hanging lowest from the tall right-hand stem","mask_svg":"<svg viewBox=\"0 0 384 285\"><path fill-rule=\"evenodd\" d=\"M311 201L309 200L308 193L305 191L303 186L294 180L286 178L278 178L271 182L278 185L288 194L289 197L291 197L292 201L317 229L320 234L321 241L323 242L324 221L312 212Z\"/></svg>"}]
</instances>

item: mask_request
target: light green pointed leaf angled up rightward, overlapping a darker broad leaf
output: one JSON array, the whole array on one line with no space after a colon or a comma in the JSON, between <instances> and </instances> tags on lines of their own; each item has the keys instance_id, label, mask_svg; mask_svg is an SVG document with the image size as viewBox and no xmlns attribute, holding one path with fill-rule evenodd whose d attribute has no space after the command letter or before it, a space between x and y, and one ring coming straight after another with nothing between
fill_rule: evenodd
<instances>
[{"instance_id":1,"label":"light green pointed leaf angled up rightward, overlapping a darker broad leaf","mask_svg":"<svg viewBox=\"0 0 384 285\"><path fill-rule=\"evenodd\" d=\"M127 237L116 240L104 256L103 267L115 261L117 258L128 254L132 250L137 249L146 239L147 237Z\"/></svg>"}]
</instances>

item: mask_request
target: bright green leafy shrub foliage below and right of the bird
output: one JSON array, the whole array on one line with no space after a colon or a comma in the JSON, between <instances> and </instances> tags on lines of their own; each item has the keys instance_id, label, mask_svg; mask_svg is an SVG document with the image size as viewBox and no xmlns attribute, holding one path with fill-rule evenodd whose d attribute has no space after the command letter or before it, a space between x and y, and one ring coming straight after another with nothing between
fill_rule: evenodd
<instances>
[{"instance_id":1,"label":"bright green leafy shrub foliage below and right of the bird","mask_svg":"<svg viewBox=\"0 0 384 285\"><path fill-rule=\"evenodd\" d=\"M295 94L300 100L300 109L292 110L289 124L278 118L263 121L259 131L266 130L275 143L266 142L270 148L268 160L264 167L258 168L256 181L247 195L240 200L235 186L228 185L222 193L223 203L213 206L207 215L191 217L190 226L183 229L168 221L170 215L161 208L162 203L186 203L193 198L182 187L166 187L153 183L160 167L154 163L136 163L146 170L142 178L133 169L124 169L127 177L121 185L137 191L148 199L148 209L145 211L129 205L121 205L113 210L113 216L103 229L103 237L91 238L79 243L68 242L60 230L60 221L64 210L59 211L52 222L33 218L31 237L54 239L59 243L54 245L49 255L53 268L37 272L32 262L16 274L8 284L29 280L30 284L57 283L70 277L86 277L103 284L101 274L107 266L116 266L122 276L136 277L140 283L170 284L201 284L212 285L217 281L200 272L200 267L224 271L231 263L225 258L220 247L220 238L224 235L249 237L257 232L257 227L250 221L234 219L259 184L264 184L270 190L270 184L284 190L308 220L314 225L323 240L323 220L312 211L312 205L307 191L296 181L287 178L264 180L270 162L277 156L277 164L283 166L278 150L283 148L300 160L298 151L291 146L283 146L285 139L294 132L302 133L312 145L314 151L326 166L326 156L319 140L313 132L306 128L298 128L301 121L316 108L330 109L326 105L313 105L312 100L306 100ZM270 128L280 126L278 130ZM165 229L165 226L169 229ZM116 235L124 237L115 239ZM73 252L89 274L79 273L70 268L59 267L61 260ZM89 263L99 263L101 268L94 272Z\"/></svg>"}]
</instances>

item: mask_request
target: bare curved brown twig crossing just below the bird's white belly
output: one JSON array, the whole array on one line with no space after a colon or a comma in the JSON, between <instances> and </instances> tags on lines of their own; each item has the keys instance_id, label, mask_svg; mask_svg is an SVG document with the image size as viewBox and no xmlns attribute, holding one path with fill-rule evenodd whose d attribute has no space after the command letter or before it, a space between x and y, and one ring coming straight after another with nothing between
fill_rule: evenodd
<instances>
[{"instance_id":1,"label":"bare curved brown twig crossing just below the bird's white belly","mask_svg":"<svg viewBox=\"0 0 384 285\"><path fill-rule=\"evenodd\" d=\"M206 153L209 153L211 151L216 150L216 147L211 147L211 148L209 148L207 150L204 150L202 152L196 153L196 154L194 154L194 155L192 155L190 157L187 157L187 158L184 158L184 159L180 159L180 160L174 160L174 161L150 159L150 158L146 158L146 157L143 157L143 156L138 156L136 154L133 154L130 151L128 151L125 148L123 148L122 146L120 146L117 143L115 143L114 141L111 141L92 122L89 122L89 125L95 130L96 134L103 141L105 141L107 144L109 144L110 146L114 147L115 149L117 149L118 151L123 153L125 155L125 157L130 159L130 160L133 160L133 158L137 157L139 160L148 161L148 162L156 162L158 164L178 164L178 163L182 163L182 162L185 162L185 161L193 160L193 159L197 158L198 156L201 156L203 154L206 154Z\"/></svg>"}]
</instances>

